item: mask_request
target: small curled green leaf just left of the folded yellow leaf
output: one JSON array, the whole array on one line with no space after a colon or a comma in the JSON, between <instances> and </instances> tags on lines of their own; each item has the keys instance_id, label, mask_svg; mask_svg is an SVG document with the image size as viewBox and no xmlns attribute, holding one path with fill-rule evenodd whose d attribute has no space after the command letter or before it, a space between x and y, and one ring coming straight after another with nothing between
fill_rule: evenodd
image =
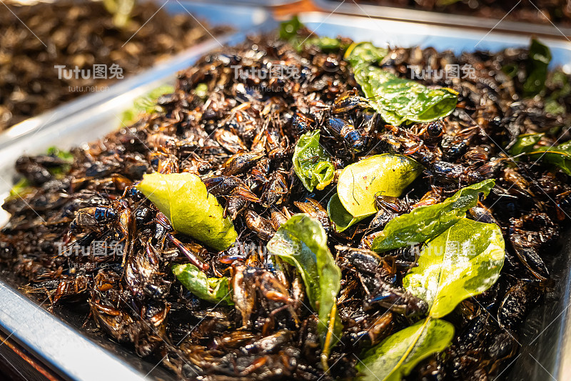
<instances>
[{"instance_id":1,"label":"small curled green leaf just left of the folded yellow leaf","mask_svg":"<svg viewBox=\"0 0 571 381\"><path fill-rule=\"evenodd\" d=\"M313 192L315 187L323 190L333 181L335 168L329 155L319 144L318 129L301 135L298 144L295 144L293 169L309 192Z\"/></svg>"}]
</instances>

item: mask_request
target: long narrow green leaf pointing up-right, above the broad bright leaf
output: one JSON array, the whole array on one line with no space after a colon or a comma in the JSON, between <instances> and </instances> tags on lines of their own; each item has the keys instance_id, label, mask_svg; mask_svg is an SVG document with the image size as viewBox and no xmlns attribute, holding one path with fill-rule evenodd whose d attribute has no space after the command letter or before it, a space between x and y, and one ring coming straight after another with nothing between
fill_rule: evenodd
<instances>
[{"instance_id":1,"label":"long narrow green leaf pointing up-right, above the broad bright leaf","mask_svg":"<svg viewBox=\"0 0 571 381\"><path fill-rule=\"evenodd\" d=\"M494 185L494 180L487 179L460 189L443 202L418 207L410 213L395 217L375 237L372 249L375 252L385 252L438 236L466 217L468 209L475 207L478 195L483 193L487 196Z\"/></svg>"}]
</instances>

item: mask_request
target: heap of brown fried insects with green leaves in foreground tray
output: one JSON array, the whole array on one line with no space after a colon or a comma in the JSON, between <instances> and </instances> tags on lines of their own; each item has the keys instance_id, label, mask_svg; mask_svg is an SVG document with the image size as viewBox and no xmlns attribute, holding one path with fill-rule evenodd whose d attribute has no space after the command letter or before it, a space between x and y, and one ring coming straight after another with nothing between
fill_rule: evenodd
<instances>
[{"instance_id":1,"label":"heap of brown fried insects with green leaves in foreground tray","mask_svg":"<svg viewBox=\"0 0 571 381\"><path fill-rule=\"evenodd\" d=\"M203 56L129 127L21 157L1 263L179 379L493 378L571 213L550 59L293 19Z\"/></svg>"}]
</instances>

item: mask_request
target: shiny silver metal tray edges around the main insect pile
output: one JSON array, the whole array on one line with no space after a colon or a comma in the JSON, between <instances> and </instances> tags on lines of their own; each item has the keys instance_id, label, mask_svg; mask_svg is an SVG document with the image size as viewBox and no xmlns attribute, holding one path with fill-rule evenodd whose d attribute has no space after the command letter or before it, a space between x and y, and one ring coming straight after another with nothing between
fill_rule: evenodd
<instances>
[{"instance_id":1,"label":"shiny silver metal tray edges around the main insect pile","mask_svg":"<svg viewBox=\"0 0 571 381\"><path fill-rule=\"evenodd\" d=\"M316 34L335 37L348 36L355 40L373 41L383 46L433 46L435 49L452 49L455 53L488 49L497 51L510 46L527 46L528 38L510 36L492 31L490 34L474 31L468 28L444 26L429 26L410 21L393 21L372 19L358 16L339 16L321 12L300 14L300 20ZM253 26L248 32L269 31L276 28L276 21L268 20L258 26ZM238 42L246 36L245 33L234 34L223 41L223 44ZM509 41L509 42L508 42ZM571 44L567 41L542 39L552 49L554 66L563 66L571 72ZM185 64L191 64L198 55L207 49L216 48L218 44L197 46ZM171 78L166 76L165 78ZM156 79L160 82L161 80ZM0 194L7 192L11 176L14 174L13 165L21 154L35 154L44 151L51 145L68 148L74 144L101 137L106 132L118 126L116 114L123 107L128 107L134 94L141 94L148 89L152 81L143 84L126 86L126 92L116 95L89 109L84 109L69 119L50 123L46 127L31 131L11 142L0 143ZM124 84L121 84L124 86ZM144 89L142 89L144 88ZM123 88L121 88L123 89ZM0 223L1 224L1 223ZM557 287L547 295L527 319L524 332L518 338L523 347L516 357L508 375L510 380L548 380L550 375L560 380L571 377L571 315L567 307L571 295L570 270L571 237L562 239L557 253L552 258L552 274ZM555 253L555 250L554 250ZM37 358L43 360L52 370L73 380L116 380L123 377L126 380L138 380L149 367L147 362L139 360L124 350L113 349L115 356L109 355L59 321L48 312L37 308L19 292L12 290L5 282L0 281L0 329L11 335L19 345L25 347ZM108 342L107 345L108 346ZM0 352L1 355L1 352ZM118 355L118 357L117 357ZM91 356L99 356L97 362ZM532 357L532 358L531 358ZM98 364L89 367L89 363ZM121 360L118 360L121 359ZM83 361L83 362L82 362ZM123 367L119 367L124 362ZM82 365L80 365L82 364ZM107 366L108 364L108 366ZM157 367L158 370L160 367ZM111 372L112 370L112 372ZM162 372L156 375L158 379L168 380L170 375Z\"/></svg>"}]
</instances>

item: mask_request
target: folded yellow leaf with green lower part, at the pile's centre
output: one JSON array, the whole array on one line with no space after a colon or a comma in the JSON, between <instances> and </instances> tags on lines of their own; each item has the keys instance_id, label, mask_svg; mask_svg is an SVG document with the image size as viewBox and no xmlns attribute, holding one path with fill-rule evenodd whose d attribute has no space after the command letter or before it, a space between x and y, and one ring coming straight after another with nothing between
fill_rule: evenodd
<instances>
[{"instance_id":1,"label":"folded yellow leaf with green lower part, at the pile's centre","mask_svg":"<svg viewBox=\"0 0 571 381\"><path fill-rule=\"evenodd\" d=\"M338 232L361 219L377 212L375 194L399 197L408 185L418 177L423 167L415 160L400 154L380 154L360 162L350 164L339 176L337 183L337 195L343 212L336 204L337 200L330 200L328 209L329 217L335 224ZM341 216L350 214L353 216L348 226L346 218Z\"/></svg>"}]
</instances>

